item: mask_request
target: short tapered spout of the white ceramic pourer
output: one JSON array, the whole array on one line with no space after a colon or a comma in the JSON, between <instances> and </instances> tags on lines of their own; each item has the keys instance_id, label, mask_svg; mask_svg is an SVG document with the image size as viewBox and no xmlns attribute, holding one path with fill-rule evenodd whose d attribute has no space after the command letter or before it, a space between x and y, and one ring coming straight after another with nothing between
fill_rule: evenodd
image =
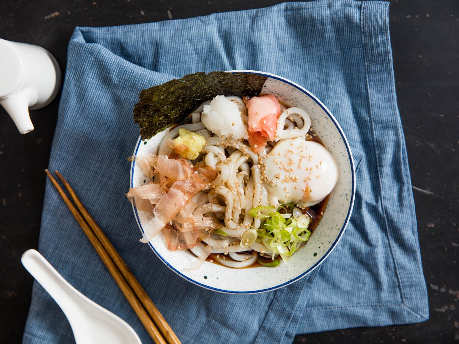
<instances>
[{"instance_id":1,"label":"short tapered spout of the white ceramic pourer","mask_svg":"<svg viewBox=\"0 0 459 344\"><path fill-rule=\"evenodd\" d=\"M28 112L29 100L30 97L27 92L18 92L0 99L0 105L8 112L21 134L27 134L34 130Z\"/></svg>"}]
</instances>

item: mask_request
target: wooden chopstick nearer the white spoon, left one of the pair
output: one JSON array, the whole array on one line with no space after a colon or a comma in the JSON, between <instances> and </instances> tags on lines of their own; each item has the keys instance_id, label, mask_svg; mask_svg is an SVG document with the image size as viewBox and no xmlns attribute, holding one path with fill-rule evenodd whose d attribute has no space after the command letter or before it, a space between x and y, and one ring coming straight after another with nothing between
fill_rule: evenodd
<instances>
[{"instance_id":1,"label":"wooden chopstick nearer the white spoon, left one of the pair","mask_svg":"<svg viewBox=\"0 0 459 344\"><path fill-rule=\"evenodd\" d=\"M123 275L121 272L119 272L117 266L113 263L112 259L102 246L101 242L99 239L96 238L95 234L92 232L91 228L89 225L85 222L84 218L80 215L78 212L77 208L72 204L71 200L67 197L67 195L64 193L62 188L59 186L59 184L56 182L56 179L53 178L53 176L50 174L48 169L45 170L46 174L50 178L51 182L53 185L56 187L57 192L61 195L62 199L64 200L65 204L67 205L68 209L72 212L73 216L77 220L78 224L80 227L83 229L84 233L90 240L91 244L94 246L95 250L101 257L102 261L104 262L105 266L107 267L108 271L112 275L113 279L115 282L118 284L118 287L121 289L123 292L124 296L128 300L129 304L131 307L134 309L135 313L139 317L140 321L144 325L146 331L150 335L151 339L157 344L166 344L166 340L162 337L161 332L157 329L155 323L151 319L151 317L148 315L148 313L145 311L144 307L140 303L139 299L137 298L136 294L134 291L131 289L129 284L126 282L124 279Z\"/></svg>"}]
</instances>

